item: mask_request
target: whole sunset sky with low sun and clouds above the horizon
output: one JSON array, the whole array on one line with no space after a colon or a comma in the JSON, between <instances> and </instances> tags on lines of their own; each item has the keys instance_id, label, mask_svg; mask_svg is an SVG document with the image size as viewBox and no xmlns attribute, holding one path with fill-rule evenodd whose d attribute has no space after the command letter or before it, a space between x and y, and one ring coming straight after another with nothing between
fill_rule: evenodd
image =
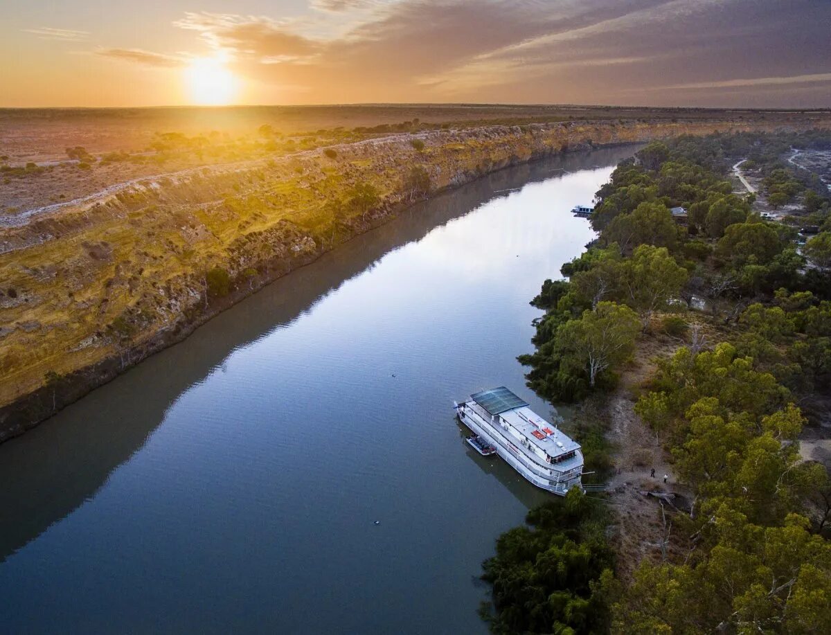
<instances>
[{"instance_id":1,"label":"whole sunset sky with low sun and clouds above the horizon","mask_svg":"<svg viewBox=\"0 0 831 635\"><path fill-rule=\"evenodd\" d=\"M0 106L831 106L831 0L8 0Z\"/></svg>"}]
</instances>

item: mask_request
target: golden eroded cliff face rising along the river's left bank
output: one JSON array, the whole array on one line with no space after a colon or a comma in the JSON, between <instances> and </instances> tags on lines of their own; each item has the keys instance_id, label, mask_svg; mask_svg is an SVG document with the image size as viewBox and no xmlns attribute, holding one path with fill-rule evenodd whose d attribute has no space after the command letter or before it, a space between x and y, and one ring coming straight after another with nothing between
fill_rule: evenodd
<instances>
[{"instance_id":1,"label":"golden eroded cliff face rising along the river's left bank","mask_svg":"<svg viewBox=\"0 0 831 635\"><path fill-rule=\"evenodd\" d=\"M799 124L794 124L799 126ZM113 185L0 224L0 440L428 194L593 145L764 123L487 126L393 135ZM415 141L415 143L414 143ZM423 146L422 146L423 145ZM377 198L356 204L356 186ZM229 289L206 273L228 274Z\"/></svg>"}]
</instances>

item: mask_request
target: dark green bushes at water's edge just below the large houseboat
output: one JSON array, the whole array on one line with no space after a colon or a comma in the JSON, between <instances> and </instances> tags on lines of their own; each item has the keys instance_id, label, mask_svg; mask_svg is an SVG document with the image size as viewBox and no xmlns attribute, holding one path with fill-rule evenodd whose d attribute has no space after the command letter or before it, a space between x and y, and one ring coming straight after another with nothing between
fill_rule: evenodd
<instances>
[{"instance_id":1,"label":"dark green bushes at water's edge just below the large houseboat","mask_svg":"<svg viewBox=\"0 0 831 635\"><path fill-rule=\"evenodd\" d=\"M614 588L607 511L571 490L529 511L530 526L509 529L485 560L493 589L493 633L603 633Z\"/></svg>"}]
</instances>

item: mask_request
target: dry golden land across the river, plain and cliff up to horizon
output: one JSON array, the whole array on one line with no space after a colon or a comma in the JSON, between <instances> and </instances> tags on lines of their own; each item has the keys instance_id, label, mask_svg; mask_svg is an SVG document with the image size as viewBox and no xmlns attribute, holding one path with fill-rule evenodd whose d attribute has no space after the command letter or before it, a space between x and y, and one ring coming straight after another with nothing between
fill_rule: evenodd
<instances>
[{"instance_id":1,"label":"dry golden land across the river, plain and cliff up to horizon","mask_svg":"<svg viewBox=\"0 0 831 635\"><path fill-rule=\"evenodd\" d=\"M30 119L21 111L0 113L2 154L9 157L10 128L15 139L29 130L27 141L14 144L18 156L57 156L56 144L83 145L89 155L76 161L87 165L96 154L116 150L138 150L150 159L166 156L161 163L121 156L88 168L59 166L81 173L78 181L86 187L79 185L57 205L52 194L42 199L48 188L38 192L38 180L48 177L52 166L7 170L4 196L21 189L32 194L28 204L0 214L0 439L22 432L238 298L430 192L592 145L829 125L825 113L784 112L593 109L583 111L592 121L562 121L576 111L496 106L242 111L243 123L234 125L248 126L243 137L226 131L180 133L188 126L176 118L193 112L187 109L106 111L100 125L99 111L69 111L63 118L60 111L34 111ZM437 113L457 123L442 125ZM304 142L311 137L275 125L278 114L285 130L330 128ZM161 127L157 116L179 121L177 133L150 132ZM208 116L230 115L224 109L198 111L197 120ZM501 123L482 125L486 116ZM534 117L561 121L509 125ZM216 124L214 119L205 127ZM258 131L263 124L271 127ZM354 130L378 125L388 127ZM194 145L194 138L207 141ZM142 139L155 139L157 147L145 150ZM91 185L93 175L98 180ZM38 211L47 204L52 206Z\"/></svg>"}]
</instances>

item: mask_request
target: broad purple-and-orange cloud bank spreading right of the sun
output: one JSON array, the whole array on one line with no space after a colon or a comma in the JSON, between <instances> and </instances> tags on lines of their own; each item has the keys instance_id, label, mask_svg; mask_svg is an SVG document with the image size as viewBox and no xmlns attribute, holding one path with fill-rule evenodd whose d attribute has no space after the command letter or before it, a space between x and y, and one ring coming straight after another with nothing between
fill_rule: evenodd
<instances>
[{"instance_id":1,"label":"broad purple-and-orange cloud bank spreading right of the sun","mask_svg":"<svg viewBox=\"0 0 831 635\"><path fill-rule=\"evenodd\" d=\"M310 101L741 105L831 100L828 0L314 0L293 20L187 13L234 71ZM762 79L737 80L736 77ZM740 83L736 83L740 82ZM747 83L752 82L752 83ZM758 93L758 95L757 95ZM715 100L715 102L714 102ZM717 102L717 103L716 103ZM757 102L757 105L759 103Z\"/></svg>"}]
</instances>

